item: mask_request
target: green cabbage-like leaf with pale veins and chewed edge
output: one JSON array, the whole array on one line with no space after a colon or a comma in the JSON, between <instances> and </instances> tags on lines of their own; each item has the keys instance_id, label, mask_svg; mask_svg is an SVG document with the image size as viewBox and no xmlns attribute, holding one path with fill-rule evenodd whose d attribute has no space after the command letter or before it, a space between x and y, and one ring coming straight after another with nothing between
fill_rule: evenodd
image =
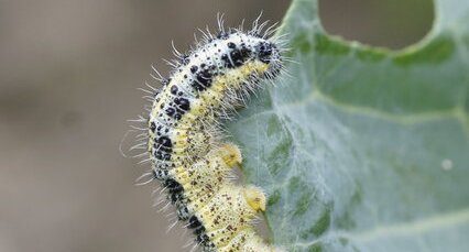
<instances>
[{"instance_id":1,"label":"green cabbage-like leaf with pale veins and chewed edge","mask_svg":"<svg viewBox=\"0 0 469 252\"><path fill-rule=\"evenodd\" d=\"M285 251L469 251L469 1L403 51L326 34L316 0L280 33L290 77L229 128Z\"/></svg>"}]
</instances>

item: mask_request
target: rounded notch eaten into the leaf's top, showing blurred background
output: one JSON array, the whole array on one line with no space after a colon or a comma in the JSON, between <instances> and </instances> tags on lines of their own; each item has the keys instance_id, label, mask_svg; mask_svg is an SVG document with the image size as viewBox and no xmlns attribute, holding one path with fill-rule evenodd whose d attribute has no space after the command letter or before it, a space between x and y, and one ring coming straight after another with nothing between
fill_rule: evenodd
<instances>
[{"instance_id":1,"label":"rounded notch eaten into the leaf's top, showing blurred background","mask_svg":"<svg viewBox=\"0 0 469 252\"><path fill-rule=\"evenodd\" d=\"M422 40L432 29L432 0L319 0L329 34L392 50Z\"/></svg>"}]
</instances>

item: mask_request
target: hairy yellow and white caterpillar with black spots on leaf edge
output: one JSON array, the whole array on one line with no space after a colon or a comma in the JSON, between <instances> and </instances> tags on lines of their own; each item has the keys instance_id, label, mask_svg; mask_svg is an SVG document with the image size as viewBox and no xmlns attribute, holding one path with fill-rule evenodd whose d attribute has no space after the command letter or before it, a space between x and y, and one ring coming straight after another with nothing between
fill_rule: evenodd
<instances>
[{"instance_id":1,"label":"hairy yellow and white caterpillar with black spots on leaf edge","mask_svg":"<svg viewBox=\"0 0 469 252\"><path fill-rule=\"evenodd\" d=\"M203 39L188 53L174 48L170 78L155 70L163 87L151 90L149 114L135 149L144 149L177 219L193 230L205 252L279 251L254 231L253 220L265 210L265 195L253 185L239 185L232 169L242 163L239 147L223 142L222 120L246 105L250 94L273 80L283 69L283 42L272 37L276 24L242 24L218 32L201 31Z\"/></svg>"}]
</instances>

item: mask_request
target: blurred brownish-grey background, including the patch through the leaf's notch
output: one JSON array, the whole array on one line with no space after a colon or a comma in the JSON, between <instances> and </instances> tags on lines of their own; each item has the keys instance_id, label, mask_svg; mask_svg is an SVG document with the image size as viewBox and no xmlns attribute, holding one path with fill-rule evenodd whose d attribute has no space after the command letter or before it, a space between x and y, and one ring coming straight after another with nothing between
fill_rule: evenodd
<instances>
[{"instance_id":1,"label":"blurred brownish-grey background, including the patch through the leaf's notch","mask_svg":"<svg viewBox=\"0 0 469 252\"><path fill-rule=\"evenodd\" d=\"M430 29L429 0L323 0L329 33L402 48ZM151 64L196 28L280 21L290 1L0 0L0 252L166 252L181 228L152 208L146 165L124 158L126 120Z\"/></svg>"}]
</instances>

